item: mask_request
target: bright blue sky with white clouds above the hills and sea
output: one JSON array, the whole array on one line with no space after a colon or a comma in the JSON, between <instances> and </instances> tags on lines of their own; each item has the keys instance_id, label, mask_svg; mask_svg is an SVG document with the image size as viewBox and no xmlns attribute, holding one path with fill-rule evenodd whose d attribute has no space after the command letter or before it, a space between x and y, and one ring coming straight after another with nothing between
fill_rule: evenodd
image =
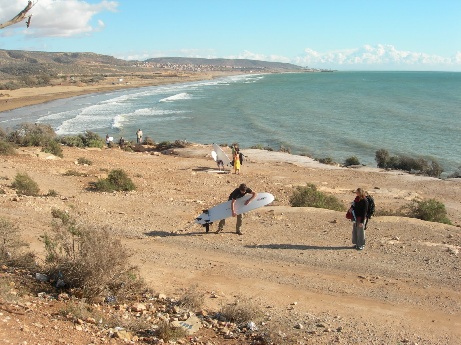
<instances>
[{"instance_id":1,"label":"bright blue sky with white clouds above the hills and sea","mask_svg":"<svg viewBox=\"0 0 461 345\"><path fill-rule=\"evenodd\" d=\"M461 71L460 0L34 0L0 49ZM27 0L0 0L0 23Z\"/></svg>"}]
</instances>

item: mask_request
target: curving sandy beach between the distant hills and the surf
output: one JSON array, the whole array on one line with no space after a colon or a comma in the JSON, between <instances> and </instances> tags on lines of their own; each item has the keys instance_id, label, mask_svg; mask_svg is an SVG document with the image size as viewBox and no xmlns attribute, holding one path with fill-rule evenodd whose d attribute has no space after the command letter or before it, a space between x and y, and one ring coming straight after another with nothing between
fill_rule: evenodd
<instances>
[{"instance_id":1,"label":"curving sandy beach between the distant hills and the surf","mask_svg":"<svg viewBox=\"0 0 461 345\"><path fill-rule=\"evenodd\" d=\"M227 72L223 71L219 74L217 71L213 72L202 72L200 74L185 74L184 76L159 78L159 79L142 79L142 78L131 78L130 76L124 77L130 84L116 84L116 78L108 77L106 81L101 82L98 85L88 85L83 83L75 83L69 85L53 85L44 87L24 87L17 90L5 90L2 93L8 96L0 98L0 119L2 113L24 108L30 105L43 104L56 99L70 98L75 96L82 96L98 92L110 92L124 89L135 89L148 86L159 86L168 84L186 83L189 81L204 81L212 80L219 77L225 77L229 75L242 75L246 73L242 72ZM131 78L131 79L130 79ZM163 80L162 80L163 79ZM81 85L83 84L83 85Z\"/></svg>"}]
</instances>

